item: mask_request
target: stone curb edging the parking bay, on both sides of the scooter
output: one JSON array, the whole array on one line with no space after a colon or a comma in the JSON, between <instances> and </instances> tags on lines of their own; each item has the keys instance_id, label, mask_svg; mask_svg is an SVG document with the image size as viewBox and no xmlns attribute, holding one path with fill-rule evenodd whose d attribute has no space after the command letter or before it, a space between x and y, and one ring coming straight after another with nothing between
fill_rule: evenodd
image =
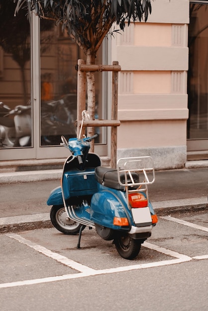
<instances>
[{"instance_id":1,"label":"stone curb edging the parking bay, on both sides of the scooter","mask_svg":"<svg viewBox=\"0 0 208 311\"><path fill-rule=\"evenodd\" d=\"M167 216L171 213L201 212L208 209L207 197L152 202L158 216ZM0 233L20 232L41 228L52 228L50 213L12 216L0 218Z\"/></svg>"}]
</instances>

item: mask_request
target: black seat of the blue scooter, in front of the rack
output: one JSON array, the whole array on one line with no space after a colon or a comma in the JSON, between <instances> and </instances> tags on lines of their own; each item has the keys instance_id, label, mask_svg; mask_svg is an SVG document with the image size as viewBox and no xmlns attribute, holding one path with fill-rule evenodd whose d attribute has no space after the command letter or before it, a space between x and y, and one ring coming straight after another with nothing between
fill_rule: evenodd
<instances>
[{"instance_id":1,"label":"black seat of the blue scooter, in front of the rack","mask_svg":"<svg viewBox=\"0 0 208 311\"><path fill-rule=\"evenodd\" d=\"M135 172L132 172L132 177L135 183L139 182L139 175ZM125 190L125 186L122 186L118 182L118 173L117 169L97 166L95 168L95 178L96 180L104 185L105 187L113 188L116 190ZM132 183L129 175L127 174L127 183ZM125 175L124 173L120 173L120 181L121 183L125 183ZM138 186L131 187L130 189L136 189Z\"/></svg>"}]
</instances>

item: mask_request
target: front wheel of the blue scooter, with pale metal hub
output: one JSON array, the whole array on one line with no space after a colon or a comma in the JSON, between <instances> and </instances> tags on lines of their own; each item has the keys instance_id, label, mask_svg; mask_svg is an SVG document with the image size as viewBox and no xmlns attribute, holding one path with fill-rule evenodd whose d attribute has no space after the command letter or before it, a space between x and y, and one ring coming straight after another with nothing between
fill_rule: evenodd
<instances>
[{"instance_id":1,"label":"front wheel of the blue scooter, with pale metal hub","mask_svg":"<svg viewBox=\"0 0 208 311\"><path fill-rule=\"evenodd\" d=\"M50 218L53 226L64 234L77 234L82 225L70 219L64 206L53 205L50 211Z\"/></svg>"}]
</instances>

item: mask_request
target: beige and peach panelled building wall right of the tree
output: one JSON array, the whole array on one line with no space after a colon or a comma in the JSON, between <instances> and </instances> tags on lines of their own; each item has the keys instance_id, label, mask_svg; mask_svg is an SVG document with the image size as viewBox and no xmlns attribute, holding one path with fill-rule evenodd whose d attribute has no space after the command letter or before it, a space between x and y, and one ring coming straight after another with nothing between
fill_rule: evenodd
<instances>
[{"instance_id":1,"label":"beige and peach panelled building wall right of the tree","mask_svg":"<svg viewBox=\"0 0 208 311\"><path fill-rule=\"evenodd\" d=\"M112 39L111 58L121 66L118 158L150 155L157 169L184 167L188 23L189 0L154 1L147 23Z\"/></svg>"}]
</instances>

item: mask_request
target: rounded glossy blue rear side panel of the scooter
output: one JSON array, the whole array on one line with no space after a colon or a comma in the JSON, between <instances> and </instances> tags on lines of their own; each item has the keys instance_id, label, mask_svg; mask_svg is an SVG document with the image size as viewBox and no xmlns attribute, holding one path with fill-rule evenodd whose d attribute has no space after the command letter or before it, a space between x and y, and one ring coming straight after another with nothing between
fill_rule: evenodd
<instances>
[{"instance_id":1,"label":"rounded glossy blue rear side panel of the scooter","mask_svg":"<svg viewBox=\"0 0 208 311\"><path fill-rule=\"evenodd\" d=\"M126 228L113 225L114 217L126 218L126 213L119 198L108 190L94 194L91 201L91 220L107 228L129 230L131 224Z\"/></svg>"}]
</instances>

